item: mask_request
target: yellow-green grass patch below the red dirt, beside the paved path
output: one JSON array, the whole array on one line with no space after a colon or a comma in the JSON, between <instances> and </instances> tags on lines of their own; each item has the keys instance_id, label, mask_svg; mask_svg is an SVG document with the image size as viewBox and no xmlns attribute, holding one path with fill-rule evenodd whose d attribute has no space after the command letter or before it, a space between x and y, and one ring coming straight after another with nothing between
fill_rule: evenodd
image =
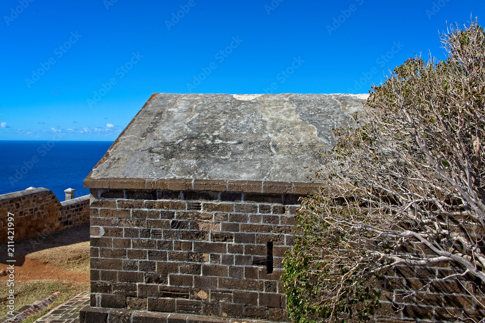
<instances>
[{"instance_id":1,"label":"yellow-green grass patch below the red dirt, beside the paved path","mask_svg":"<svg viewBox=\"0 0 485 323\"><path fill-rule=\"evenodd\" d=\"M53 279L18 281L15 282L14 286L15 308L20 309L25 305L40 301L41 299L52 295L54 292L59 292L59 295L54 302L50 304L49 308L43 311L44 314L46 314L52 308L65 303L80 292L88 291L89 288L89 282L70 283ZM9 295L9 289L12 289L12 287L7 287L6 284L0 286L0 317L7 315L6 305L8 300L6 297ZM39 318L44 314L35 314L23 321L23 323L33 323L35 321L34 317Z\"/></svg>"}]
</instances>

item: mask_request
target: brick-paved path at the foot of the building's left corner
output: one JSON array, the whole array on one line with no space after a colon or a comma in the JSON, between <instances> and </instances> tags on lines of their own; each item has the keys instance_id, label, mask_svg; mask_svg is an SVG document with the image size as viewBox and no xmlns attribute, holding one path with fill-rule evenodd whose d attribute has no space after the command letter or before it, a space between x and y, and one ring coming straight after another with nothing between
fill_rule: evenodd
<instances>
[{"instance_id":1,"label":"brick-paved path at the foot of the building's left corner","mask_svg":"<svg viewBox=\"0 0 485 323\"><path fill-rule=\"evenodd\" d=\"M76 297L54 308L35 321L36 323L79 323L79 310L89 305L90 292L81 292Z\"/></svg>"}]
</instances>

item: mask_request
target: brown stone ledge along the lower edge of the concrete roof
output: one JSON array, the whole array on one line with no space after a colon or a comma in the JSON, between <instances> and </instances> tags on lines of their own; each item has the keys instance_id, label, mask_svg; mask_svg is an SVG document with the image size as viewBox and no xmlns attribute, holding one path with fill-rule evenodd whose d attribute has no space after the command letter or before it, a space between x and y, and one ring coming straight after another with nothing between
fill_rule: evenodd
<instances>
[{"instance_id":1,"label":"brown stone ledge along the lower edge of the concrete roof","mask_svg":"<svg viewBox=\"0 0 485 323\"><path fill-rule=\"evenodd\" d=\"M91 175L91 174L90 174ZM324 184L196 179L92 178L84 179L84 188L142 189L169 191L214 191L264 194L300 194L320 190Z\"/></svg>"}]
</instances>

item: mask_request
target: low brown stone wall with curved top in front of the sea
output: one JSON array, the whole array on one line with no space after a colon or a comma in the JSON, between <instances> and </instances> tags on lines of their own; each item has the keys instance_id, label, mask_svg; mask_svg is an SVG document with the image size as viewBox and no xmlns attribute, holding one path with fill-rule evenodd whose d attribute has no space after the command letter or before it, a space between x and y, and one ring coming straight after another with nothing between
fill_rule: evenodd
<instances>
[{"instance_id":1,"label":"low brown stone wall with curved top in front of the sea","mask_svg":"<svg viewBox=\"0 0 485 323\"><path fill-rule=\"evenodd\" d=\"M0 195L0 243L8 239L8 213L15 219L14 240L31 238L89 223L89 195L59 202L43 187Z\"/></svg>"}]
</instances>

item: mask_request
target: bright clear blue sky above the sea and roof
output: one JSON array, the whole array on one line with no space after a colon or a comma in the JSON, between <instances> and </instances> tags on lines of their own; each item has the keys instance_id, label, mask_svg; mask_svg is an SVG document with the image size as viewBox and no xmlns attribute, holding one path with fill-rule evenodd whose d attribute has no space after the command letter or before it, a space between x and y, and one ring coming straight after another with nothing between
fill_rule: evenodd
<instances>
[{"instance_id":1,"label":"bright clear blue sky above the sea and roof","mask_svg":"<svg viewBox=\"0 0 485 323\"><path fill-rule=\"evenodd\" d=\"M154 92L366 93L484 0L3 0L0 140L114 140Z\"/></svg>"}]
</instances>

